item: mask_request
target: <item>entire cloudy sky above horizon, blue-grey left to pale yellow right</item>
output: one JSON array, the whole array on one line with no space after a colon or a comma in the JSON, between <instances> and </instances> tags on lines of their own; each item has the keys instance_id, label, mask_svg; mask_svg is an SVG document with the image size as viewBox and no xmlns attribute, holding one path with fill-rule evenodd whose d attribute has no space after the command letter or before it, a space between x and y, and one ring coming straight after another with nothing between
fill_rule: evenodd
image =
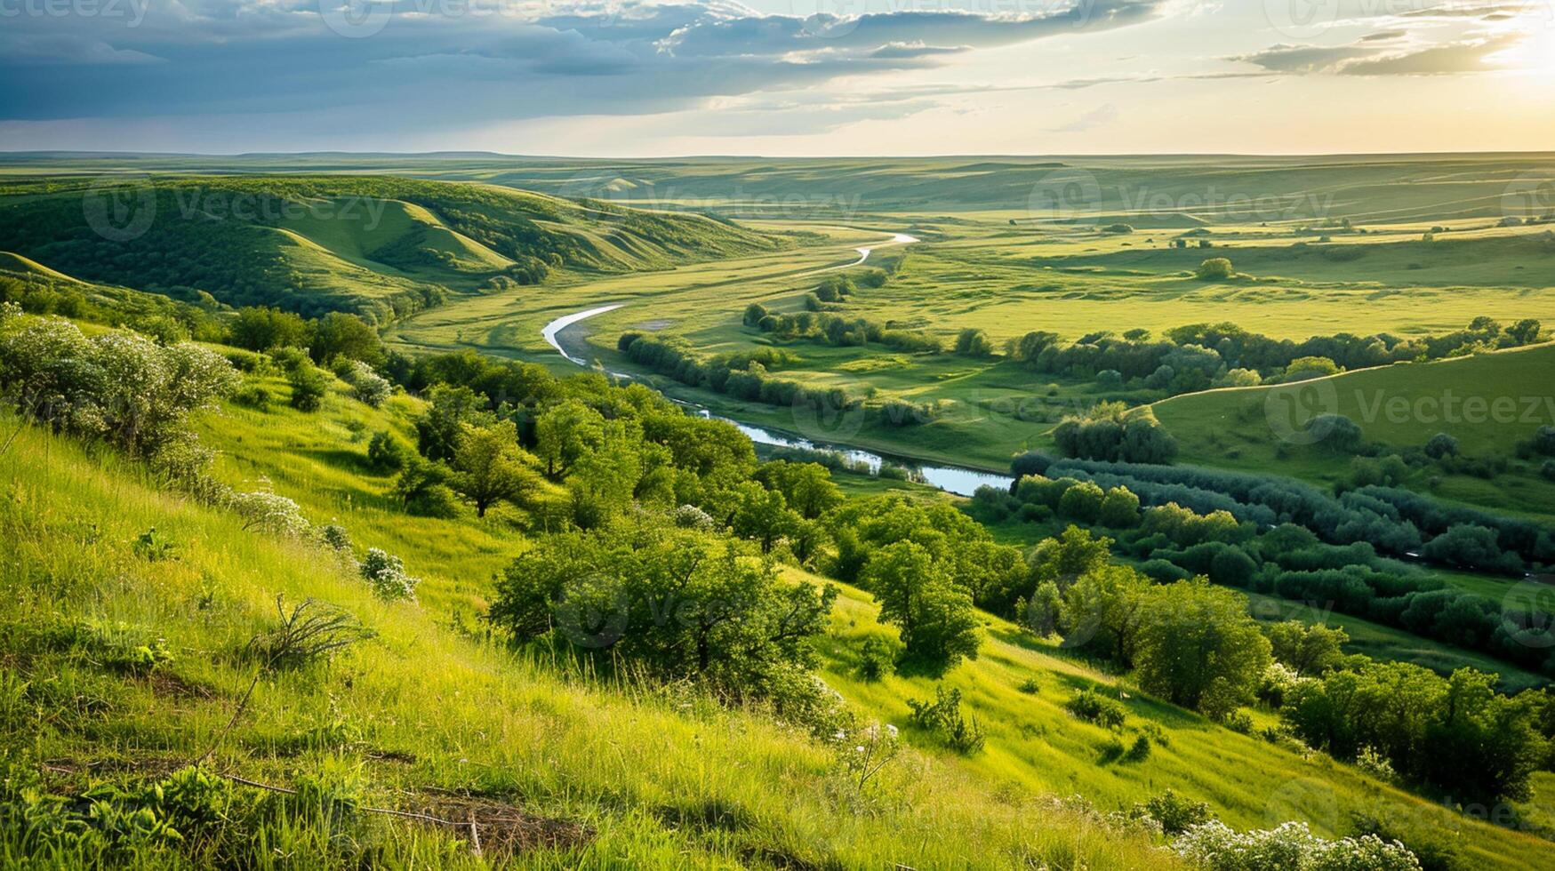
<instances>
[{"instance_id":1,"label":"entire cloudy sky above horizon, blue-grey left to pale yellow right","mask_svg":"<svg viewBox=\"0 0 1555 871\"><path fill-rule=\"evenodd\" d=\"M0 0L0 151L1555 148L1555 0Z\"/></svg>"}]
</instances>

